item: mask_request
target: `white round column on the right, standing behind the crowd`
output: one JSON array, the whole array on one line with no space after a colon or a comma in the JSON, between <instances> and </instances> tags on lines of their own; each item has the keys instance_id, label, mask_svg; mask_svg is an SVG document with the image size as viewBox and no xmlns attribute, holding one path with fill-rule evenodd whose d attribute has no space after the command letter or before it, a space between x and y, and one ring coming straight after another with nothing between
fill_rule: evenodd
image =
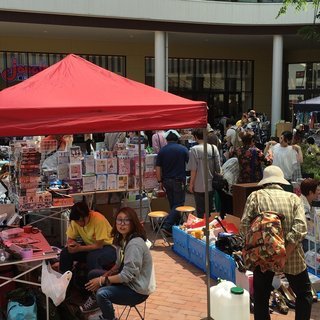
<instances>
[{"instance_id":1,"label":"white round column on the right, standing behind the crowd","mask_svg":"<svg viewBox=\"0 0 320 320\"><path fill-rule=\"evenodd\" d=\"M283 38L273 36L273 63L272 63L272 105L271 105L271 135L275 135L276 123L281 120L282 96L282 61Z\"/></svg>"}]
</instances>

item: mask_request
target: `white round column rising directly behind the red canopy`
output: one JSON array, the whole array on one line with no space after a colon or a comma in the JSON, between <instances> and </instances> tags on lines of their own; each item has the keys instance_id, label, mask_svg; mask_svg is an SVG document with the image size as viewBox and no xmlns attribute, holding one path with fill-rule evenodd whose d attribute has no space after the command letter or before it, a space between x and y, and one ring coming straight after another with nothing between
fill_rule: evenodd
<instances>
[{"instance_id":1,"label":"white round column rising directly behind the red canopy","mask_svg":"<svg viewBox=\"0 0 320 320\"><path fill-rule=\"evenodd\" d=\"M154 52L155 87L164 91L168 91L168 41L166 32L155 31Z\"/></svg>"}]
</instances>

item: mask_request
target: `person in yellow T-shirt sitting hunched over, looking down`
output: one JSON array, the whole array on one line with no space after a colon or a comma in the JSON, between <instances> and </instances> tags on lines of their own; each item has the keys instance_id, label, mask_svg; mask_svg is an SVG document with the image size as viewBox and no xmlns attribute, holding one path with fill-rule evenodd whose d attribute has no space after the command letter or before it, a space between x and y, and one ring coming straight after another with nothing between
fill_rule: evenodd
<instances>
[{"instance_id":1,"label":"person in yellow T-shirt sitting hunched over, looking down","mask_svg":"<svg viewBox=\"0 0 320 320\"><path fill-rule=\"evenodd\" d=\"M60 254L60 272L72 270L75 261L86 262L88 270L108 270L116 261L112 227L99 212L82 201L71 208L67 245Z\"/></svg>"}]
</instances>

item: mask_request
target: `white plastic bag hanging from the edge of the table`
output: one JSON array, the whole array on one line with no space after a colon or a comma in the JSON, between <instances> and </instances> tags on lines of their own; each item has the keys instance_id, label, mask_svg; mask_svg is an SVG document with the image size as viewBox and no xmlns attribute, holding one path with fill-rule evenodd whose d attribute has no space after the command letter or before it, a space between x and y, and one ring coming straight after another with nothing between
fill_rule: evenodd
<instances>
[{"instance_id":1,"label":"white plastic bag hanging from the edge of the table","mask_svg":"<svg viewBox=\"0 0 320 320\"><path fill-rule=\"evenodd\" d=\"M54 271L49 263L42 262L41 290L52 299L55 306L64 301L71 277L71 271L61 274Z\"/></svg>"}]
</instances>

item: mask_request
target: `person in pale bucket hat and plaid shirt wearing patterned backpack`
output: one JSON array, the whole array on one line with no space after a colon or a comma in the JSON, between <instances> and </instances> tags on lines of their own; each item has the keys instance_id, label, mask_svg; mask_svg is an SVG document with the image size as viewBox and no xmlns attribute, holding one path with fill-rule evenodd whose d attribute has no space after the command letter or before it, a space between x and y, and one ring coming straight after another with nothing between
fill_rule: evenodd
<instances>
[{"instance_id":1,"label":"person in pale bucket hat and plaid shirt wearing patterned backpack","mask_svg":"<svg viewBox=\"0 0 320 320\"><path fill-rule=\"evenodd\" d=\"M256 257L251 257L251 261L257 260L255 267L252 268L255 320L270 320L269 299L273 289L272 280L275 271L283 272L286 275L290 287L296 294L295 319L308 320L311 315L311 283L301 244L307 234L307 223L299 197L284 191L282 188L283 185L288 184L289 182L284 179L283 172L279 167L271 165L265 168L263 178L258 183L258 185L263 186L263 189L254 191L249 195L241 219L240 232L246 238L245 248L248 249L250 247L249 241L254 245L257 244L256 239L254 239L254 230L252 230L252 224L256 216L264 213L278 213L283 216L280 226L277 226L281 229L277 230L279 231L279 237L270 236L268 242L263 244L271 247L279 243L280 246L281 236L283 235L282 241L285 245L285 255L283 255L285 260L283 263L279 264L279 257L278 260L276 257L269 257L268 263L264 263ZM270 224L268 227L272 229L272 222ZM266 230L267 228L264 232ZM253 235L251 237L248 236L250 232ZM267 234L264 234L264 236L268 237ZM250 257L246 256L247 253L244 254L245 262L246 258L250 260ZM273 260L273 258L275 259ZM275 262L273 265L272 261L277 261L277 263ZM279 270L279 265L283 265L282 270ZM267 269L265 266L268 266Z\"/></svg>"}]
</instances>

